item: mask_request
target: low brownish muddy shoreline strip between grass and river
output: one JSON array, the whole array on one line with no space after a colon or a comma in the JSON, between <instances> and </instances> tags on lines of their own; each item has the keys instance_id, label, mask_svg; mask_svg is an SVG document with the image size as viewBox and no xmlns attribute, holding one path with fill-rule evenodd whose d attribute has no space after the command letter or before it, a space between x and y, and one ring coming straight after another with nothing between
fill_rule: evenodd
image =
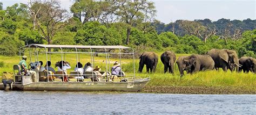
<instances>
[{"instance_id":1,"label":"low brownish muddy shoreline strip between grass and river","mask_svg":"<svg viewBox=\"0 0 256 115\"><path fill-rule=\"evenodd\" d=\"M139 92L155 94L219 94L241 95L256 94L256 88L243 87L186 87L186 86L145 86Z\"/></svg>"}]
</instances>

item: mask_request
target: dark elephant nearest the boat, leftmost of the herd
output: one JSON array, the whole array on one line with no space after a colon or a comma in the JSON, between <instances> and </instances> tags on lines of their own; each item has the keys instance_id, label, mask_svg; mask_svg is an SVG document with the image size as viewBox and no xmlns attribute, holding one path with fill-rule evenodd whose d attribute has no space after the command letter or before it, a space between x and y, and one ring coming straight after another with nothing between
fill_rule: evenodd
<instances>
[{"instance_id":1,"label":"dark elephant nearest the boat, leftmost of the herd","mask_svg":"<svg viewBox=\"0 0 256 115\"><path fill-rule=\"evenodd\" d=\"M142 73L144 64L146 64L147 73L153 71L153 73L156 71L157 68L157 62L158 62L158 55L154 52L143 52L142 55L140 55L140 61L139 61L139 73Z\"/></svg>"}]
</instances>

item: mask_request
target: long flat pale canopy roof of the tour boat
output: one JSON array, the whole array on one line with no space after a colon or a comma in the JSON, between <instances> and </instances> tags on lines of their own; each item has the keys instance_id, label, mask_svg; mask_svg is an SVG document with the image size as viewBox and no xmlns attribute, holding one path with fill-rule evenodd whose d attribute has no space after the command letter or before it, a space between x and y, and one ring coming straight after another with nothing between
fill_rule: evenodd
<instances>
[{"instance_id":1,"label":"long flat pale canopy roof of the tour boat","mask_svg":"<svg viewBox=\"0 0 256 115\"><path fill-rule=\"evenodd\" d=\"M84 48L84 49L129 49L126 46L83 46L83 45L44 45L44 44L30 44L21 48Z\"/></svg>"}]
</instances>

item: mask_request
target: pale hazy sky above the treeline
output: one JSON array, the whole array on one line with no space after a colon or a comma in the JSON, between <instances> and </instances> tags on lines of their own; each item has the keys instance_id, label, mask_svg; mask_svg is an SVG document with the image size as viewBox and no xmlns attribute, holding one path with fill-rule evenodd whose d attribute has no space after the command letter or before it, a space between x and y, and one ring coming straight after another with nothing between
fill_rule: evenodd
<instances>
[{"instance_id":1,"label":"pale hazy sky above the treeline","mask_svg":"<svg viewBox=\"0 0 256 115\"><path fill-rule=\"evenodd\" d=\"M61 6L69 9L72 0L59 0ZM168 24L178 19L211 19L221 18L244 20L256 19L255 0L150 0L156 6L156 19ZM28 0L0 0L3 8L15 3L28 3Z\"/></svg>"}]
</instances>

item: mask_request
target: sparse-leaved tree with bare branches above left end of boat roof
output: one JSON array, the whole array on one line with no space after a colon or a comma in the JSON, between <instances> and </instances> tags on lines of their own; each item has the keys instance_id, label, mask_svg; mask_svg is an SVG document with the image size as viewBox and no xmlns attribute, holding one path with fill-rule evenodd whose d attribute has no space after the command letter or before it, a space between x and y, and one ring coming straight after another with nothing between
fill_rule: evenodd
<instances>
[{"instance_id":1,"label":"sparse-leaved tree with bare branches above left end of boat roof","mask_svg":"<svg viewBox=\"0 0 256 115\"><path fill-rule=\"evenodd\" d=\"M51 44L56 32L68 24L68 11L62 9L58 1L53 0L30 2L27 6L39 34Z\"/></svg>"}]
</instances>

